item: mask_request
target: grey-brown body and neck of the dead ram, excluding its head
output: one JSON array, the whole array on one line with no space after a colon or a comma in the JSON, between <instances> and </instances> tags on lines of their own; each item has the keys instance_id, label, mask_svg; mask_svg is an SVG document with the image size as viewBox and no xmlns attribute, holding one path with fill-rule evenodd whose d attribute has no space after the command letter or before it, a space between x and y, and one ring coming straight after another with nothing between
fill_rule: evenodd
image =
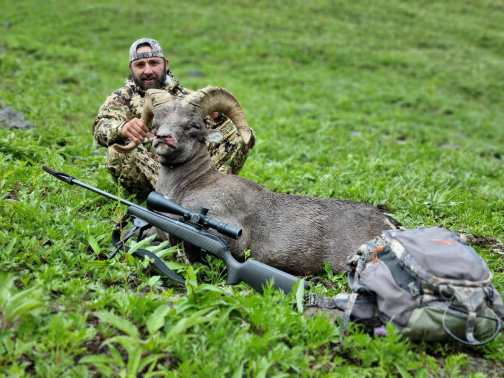
<instances>
[{"instance_id":1,"label":"grey-brown body and neck of the dead ram, excluding its head","mask_svg":"<svg viewBox=\"0 0 504 378\"><path fill-rule=\"evenodd\" d=\"M323 260L335 271L345 270L346 257L360 244L397 225L360 202L273 193L221 173L205 144L194 161L162 166L156 192L195 211L204 205L212 218L242 228L239 240L228 239L235 258L250 249L258 261L295 274L317 272ZM199 259L198 251L186 250L190 260Z\"/></svg>"}]
</instances>

